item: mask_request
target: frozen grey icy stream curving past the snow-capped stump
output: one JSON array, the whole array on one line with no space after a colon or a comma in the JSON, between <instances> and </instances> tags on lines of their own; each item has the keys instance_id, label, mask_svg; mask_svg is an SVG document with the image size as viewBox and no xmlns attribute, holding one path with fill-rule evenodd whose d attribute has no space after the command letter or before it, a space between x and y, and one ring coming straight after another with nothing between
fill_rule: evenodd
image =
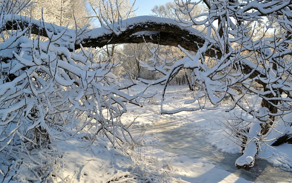
<instances>
[{"instance_id":1,"label":"frozen grey icy stream curving past the snow-capped stump","mask_svg":"<svg viewBox=\"0 0 292 183\"><path fill-rule=\"evenodd\" d=\"M198 115L198 118L202 117L204 116ZM206 123L206 126L208 126L209 119L206 118L201 119L200 123ZM250 171L238 170L234 162L240 154L218 152L218 149L206 141L206 138L210 138L208 136L211 135L209 133L212 130L205 131L201 125L187 118L182 118L181 115L173 115L167 121L159 121L150 129L160 139L155 148L178 156L173 158L171 163L175 168L180 168L182 171L177 172L176 177L181 177L185 181L288 182L288 180L291 180L291 173L283 172L280 168L274 168L266 160L260 160L259 165L255 165ZM151 131L148 130L146 135L153 135Z\"/></svg>"}]
</instances>

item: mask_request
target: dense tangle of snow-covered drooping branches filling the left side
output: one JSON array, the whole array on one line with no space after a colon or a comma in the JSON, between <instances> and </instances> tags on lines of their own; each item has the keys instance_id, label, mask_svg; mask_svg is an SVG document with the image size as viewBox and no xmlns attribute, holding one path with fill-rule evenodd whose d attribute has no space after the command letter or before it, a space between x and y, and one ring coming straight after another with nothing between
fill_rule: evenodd
<instances>
[{"instance_id":1,"label":"dense tangle of snow-covered drooping branches filling the left side","mask_svg":"<svg viewBox=\"0 0 292 183\"><path fill-rule=\"evenodd\" d=\"M95 59L93 49L82 45L70 49L86 27L72 31L15 14L4 20L2 30L6 21L29 23L0 44L0 173L6 180L46 181L62 156L56 144L84 127L94 129L86 134L91 143L99 135L114 147L139 143L119 117L127 102L140 105L141 94L130 96L117 82L112 70L119 62ZM48 39L30 39L31 24ZM19 173L23 166L31 173Z\"/></svg>"}]
</instances>

